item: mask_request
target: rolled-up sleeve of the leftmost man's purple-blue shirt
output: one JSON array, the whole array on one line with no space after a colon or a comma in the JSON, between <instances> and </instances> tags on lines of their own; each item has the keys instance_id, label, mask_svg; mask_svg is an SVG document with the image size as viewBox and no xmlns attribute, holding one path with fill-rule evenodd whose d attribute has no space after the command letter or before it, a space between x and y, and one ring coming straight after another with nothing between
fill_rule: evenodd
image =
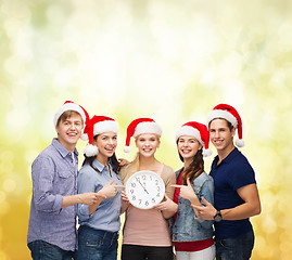
<instances>
[{"instance_id":1,"label":"rolled-up sleeve of the leftmost man's purple-blue shirt","mask_svg":"<svg viewBox=\"0 0 292 260\"><path fill-rule=\"evenodd\" d=\"M43 212L60 213L63 203L61 194L54 194L54 162L50 157L39 157L31 166L34 204Z\"/></svg>"}]
</instances>

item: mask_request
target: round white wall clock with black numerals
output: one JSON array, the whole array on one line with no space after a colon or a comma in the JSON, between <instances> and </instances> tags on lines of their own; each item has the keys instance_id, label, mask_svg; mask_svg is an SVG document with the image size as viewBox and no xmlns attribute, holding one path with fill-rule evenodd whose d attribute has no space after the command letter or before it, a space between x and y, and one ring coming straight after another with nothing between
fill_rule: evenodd
<instances>
[{"instance_id":1,"label":"round white wall clock with black numerals","mask_svg":"<svg viewBox=\"0 0 292 260\"><path fill-rule=\"evenodd\" d=\"M164 198L165 184L153 171L137 171L126 183L126 194L134 207L150 209Z\"/></svg>"}]
</instances>

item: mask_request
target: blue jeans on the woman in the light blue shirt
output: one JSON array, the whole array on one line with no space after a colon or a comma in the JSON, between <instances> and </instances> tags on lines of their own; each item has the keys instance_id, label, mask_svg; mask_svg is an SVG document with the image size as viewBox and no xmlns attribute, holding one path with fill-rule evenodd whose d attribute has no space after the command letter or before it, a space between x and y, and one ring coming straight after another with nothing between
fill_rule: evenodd
<instances>
[{"instance_id":1,"label":"blue jeans on the woman in the light blue shirt","mask_svg":"<svg viewBox=\"0 0 292 260\"><path fill-rule=\"evenodd\" d=\"M94 230L81 225L78 230L77 260L115 260L117 258L118 232Z\"/></svg>"}]
</instances>

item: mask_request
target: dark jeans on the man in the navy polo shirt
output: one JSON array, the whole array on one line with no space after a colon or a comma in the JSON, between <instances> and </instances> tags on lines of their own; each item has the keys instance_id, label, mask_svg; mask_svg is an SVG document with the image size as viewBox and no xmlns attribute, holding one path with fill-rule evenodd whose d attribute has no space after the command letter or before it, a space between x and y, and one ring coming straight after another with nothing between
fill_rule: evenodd
<instances>
[{"instance_id":1,"label":"dark jeans on the man in the navy polo shirt","mask_svg":"<svg viewBox=\"0 0 292 260\"><path fill-rule=\"evenodd\" d=\"M215 238L216 260L247 260L254 247L254 233L250 231L233 238Z\"/></svg>"}]
</instances>

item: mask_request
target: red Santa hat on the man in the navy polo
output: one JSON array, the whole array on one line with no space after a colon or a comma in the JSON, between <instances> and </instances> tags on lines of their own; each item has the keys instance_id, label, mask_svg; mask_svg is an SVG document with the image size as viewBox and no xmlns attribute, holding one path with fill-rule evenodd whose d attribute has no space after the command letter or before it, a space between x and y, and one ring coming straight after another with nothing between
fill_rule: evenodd
<instances>
[{"instance_id":1,"label":"red Santa hat on the man in the navy polo","mask_svg":"<svg viewBox=\"0 0 292 260\"><path fill-rule=\"evenodd\" d=\"M231 122L233 128L238 129L239 140L236 141L238 147L243 147L244 142L242 140L242 121L237 109L233 106L227 104L216 105L207 116L207 126L215 118L223 118Z\"/></svg>"}]
</instances>

